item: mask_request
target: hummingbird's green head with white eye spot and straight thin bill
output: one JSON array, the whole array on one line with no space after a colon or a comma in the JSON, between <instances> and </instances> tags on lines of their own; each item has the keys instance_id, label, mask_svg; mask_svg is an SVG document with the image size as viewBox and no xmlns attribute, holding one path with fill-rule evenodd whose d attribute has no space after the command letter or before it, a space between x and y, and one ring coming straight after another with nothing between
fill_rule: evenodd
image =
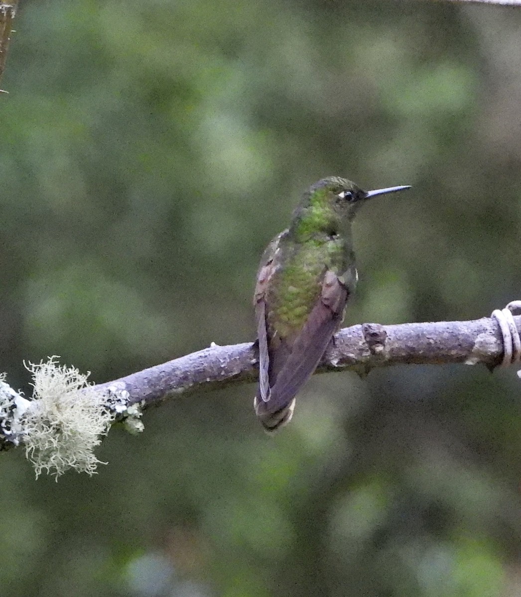
<instances>
[{"instance_id":1,"label":"hummingbird's green head with white eye spot and straight thin bill","mask_svg":"<svg viewBox=\"0 0 521 597\"><path fill-rule=\"evenodd\" d=\"M329 208L342 220L352 220L366 199L409 188L409 186L396 186L366 191L360 189L351 180L330 176L309 187L305 195L307 206L304 207L317 207L318 209L322 207L326 210Z\"/></svg>"}]
</instances>

